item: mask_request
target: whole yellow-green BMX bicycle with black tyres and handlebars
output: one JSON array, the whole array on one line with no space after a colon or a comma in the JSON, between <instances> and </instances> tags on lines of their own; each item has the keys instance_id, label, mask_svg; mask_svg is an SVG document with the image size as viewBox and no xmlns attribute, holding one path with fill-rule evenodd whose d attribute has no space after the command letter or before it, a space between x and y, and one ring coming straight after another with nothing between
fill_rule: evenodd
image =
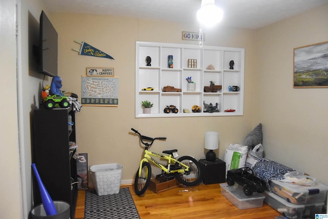
<instances>
[{"instance_id":1,"label":"whole yellow-green BMX bicycle with black tyres and handlebars","mask_svg":"<svg viewBox=\"0 0 328 219\"><path fill-rule=\"evenodd\" d=\"M155 140L166 140L166 137L147 137L141 135L137 130L131 128L140 137L140 142L145 145L144 158L141 159L139 169L135 175L134 180L134 191L137 195L142 195L146 192L150 180L151 180L151 161L154 165L162 170L162 175L165 177L170 177L174 175L176 179L185 186L195 186L199 183L201 172L200 166L197 160L191 156L181 156L176 159L177 149L166 150L162 153L168 154L158 154L149 151L148 149L152 146ZM167 160L167 166L158 163L153 157L160 157L161 159Z\"/></svg>"}]
</instances>

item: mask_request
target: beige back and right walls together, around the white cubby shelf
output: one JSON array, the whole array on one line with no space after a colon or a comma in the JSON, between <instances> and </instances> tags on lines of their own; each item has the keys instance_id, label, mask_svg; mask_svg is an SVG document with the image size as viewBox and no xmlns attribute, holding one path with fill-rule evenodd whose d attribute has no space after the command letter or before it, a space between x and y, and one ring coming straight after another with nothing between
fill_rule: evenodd
<instances>
[{"instance_id":1,"label":"beige back and right walls together, around the white cubby shelf","mask_svg":"<svg viewBox=\"0 0 328 219\"><path fill-rule=\"evenodd\" d=\"M114 67L119 76L119 106L85 106L76 115L79 152L89 154L89 165L120 163L122 180L130 183L142 150L129 134L136 128L145 135L166 136L154 151L177 148L180 155L204 156L206 131L218 131L218 157L230 143L242 144L258 123L263 124L267 157L328 184L319 166L326 166L324 130L326 89L293 89L293 48L323 42L327 35L327 5L257 31L218 27L204 29L205 45L245 48L244 115L224 117L134 118L135 42L197 44L181 40L182 31L197 32L197 24L95 16L52 14L59 33L59 75L63 89L80 96L86 67ZM80 56L73 41L85 41L115 58ZM315 111L313 111L315 109ZM155 172L156 173L156 172ZM92 185L92 184L91 184Z\"/></svg>"}]
</instances>

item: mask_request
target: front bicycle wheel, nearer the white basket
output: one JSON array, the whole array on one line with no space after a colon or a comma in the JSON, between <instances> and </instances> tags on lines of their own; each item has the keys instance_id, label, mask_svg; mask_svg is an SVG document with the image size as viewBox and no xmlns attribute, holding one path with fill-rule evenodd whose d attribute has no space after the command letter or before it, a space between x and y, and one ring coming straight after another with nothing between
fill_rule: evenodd
<instances>
[{"instance_id":1,"label":"front bicycle wheel, nearer the white basket","mask_svg":"<svg viewBox=\"0 0 328 219\"><path fill-rule=\"evenodd\" d=\"M138 168L134 180L134 191L137 195L140 196L146 192L150 183L151 175L152 175L152 169L150 164L148 162L142 163L141 175L139 177L139 168Z\"/></svg>"}]
</instances>

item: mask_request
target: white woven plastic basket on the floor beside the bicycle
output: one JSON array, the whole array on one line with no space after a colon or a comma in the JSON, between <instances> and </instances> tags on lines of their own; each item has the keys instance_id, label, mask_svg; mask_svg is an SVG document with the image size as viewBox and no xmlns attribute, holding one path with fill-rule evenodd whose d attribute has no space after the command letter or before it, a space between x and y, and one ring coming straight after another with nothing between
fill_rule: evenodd
<instances>
[{"instance_id":1,"label":"white woven plastic basket on the floor beside the bicycle","mask_svg":"<svg viewBox=\"0 0 328 219\"><path fill-rule=\"evenodd\" d=\"M98 195L119 192L123 166L120 164L100 164L90 167L90 174Z\"/></svg>"}]
</instances>

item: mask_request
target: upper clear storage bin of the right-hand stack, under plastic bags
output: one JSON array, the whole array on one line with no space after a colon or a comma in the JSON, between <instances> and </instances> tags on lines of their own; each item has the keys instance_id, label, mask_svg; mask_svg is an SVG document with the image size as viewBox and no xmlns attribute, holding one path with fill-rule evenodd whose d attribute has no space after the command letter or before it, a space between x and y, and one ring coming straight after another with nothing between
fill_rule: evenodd
<instances>
[{"instance_id":1,"label":"upper clear storage bin of the right-hand stack, under plastic bags","mask_svg":"<svg viewBox=\"0 0 328 219\"><path fill-rule=\"evenodd\" d=\"M328 187L317 183L315 186L301 186L278 180L269 182L272 192L285 201L297 205L316 204L324 202Z\"/></svg>"}]
</instances>

